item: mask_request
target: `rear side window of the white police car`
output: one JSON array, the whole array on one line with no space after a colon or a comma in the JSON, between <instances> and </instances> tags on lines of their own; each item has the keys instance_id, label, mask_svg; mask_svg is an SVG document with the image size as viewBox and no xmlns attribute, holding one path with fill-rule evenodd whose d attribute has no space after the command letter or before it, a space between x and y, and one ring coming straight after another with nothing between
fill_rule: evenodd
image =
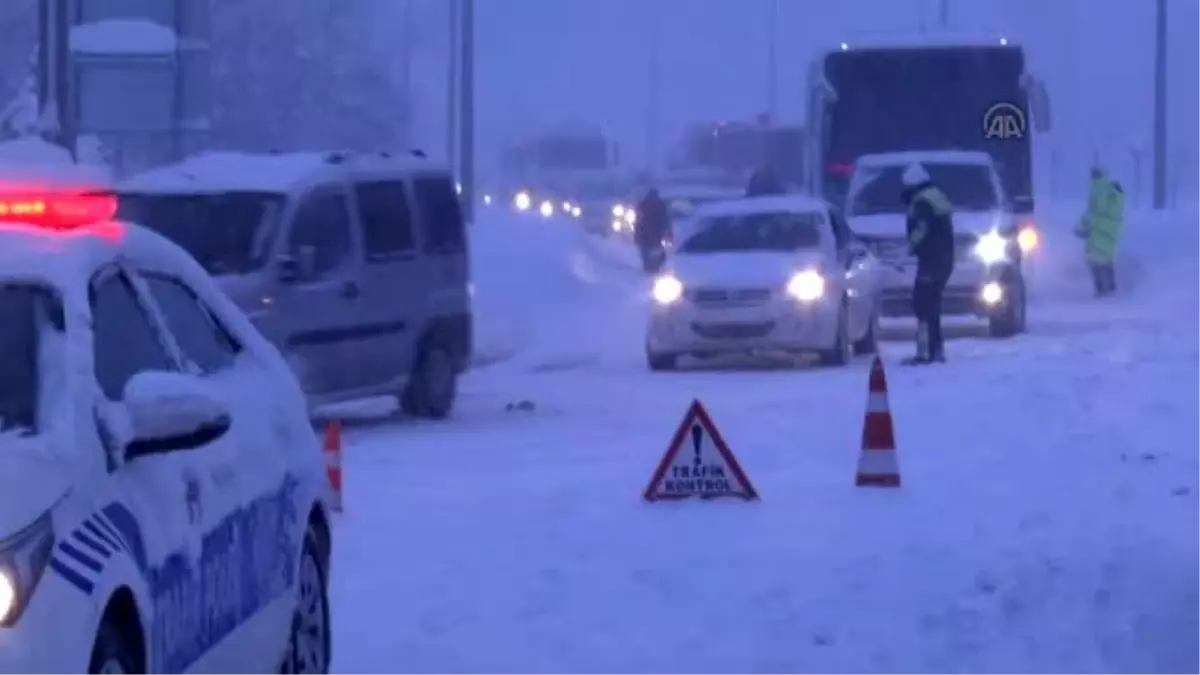
<instances>
[{"instance_id":1,"label":"rear side window of the white police car","mask_svg":"<svg viewBox=\"0 0 1200 675\"><path fill-rule=\"evenodd\" d=\"M234 364L241 345L191 288L158 274L143 277L179 350L200 374L211 375Z\"/></svg>"}]
</instances>

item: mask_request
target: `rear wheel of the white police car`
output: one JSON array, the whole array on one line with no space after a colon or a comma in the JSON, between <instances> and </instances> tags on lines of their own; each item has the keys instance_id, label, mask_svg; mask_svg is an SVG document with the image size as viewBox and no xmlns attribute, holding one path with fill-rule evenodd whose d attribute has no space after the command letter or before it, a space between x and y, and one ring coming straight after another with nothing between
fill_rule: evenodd
<instances>
[{"instance_id":1,"label":"rear wheel of the white police car","mask_svg":"<svg viewBox=\"0 0 1200 675\"><path fill-rule=\"evenodd\" d=\"M296 609L278 675L328 675L332 661L329 631L329 585L317 538L310 530L300 552Z\"/></svg>"}]
</instances>

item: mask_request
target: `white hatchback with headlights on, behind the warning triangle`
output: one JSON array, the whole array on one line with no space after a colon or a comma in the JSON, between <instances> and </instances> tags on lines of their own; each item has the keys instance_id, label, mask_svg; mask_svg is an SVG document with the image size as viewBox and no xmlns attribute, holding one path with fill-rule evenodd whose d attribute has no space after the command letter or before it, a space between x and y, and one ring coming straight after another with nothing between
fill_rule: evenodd
<instances>
[{"instance_id":1,"label":"white hatchback with headlights on, behind the warning triangle","mask_svg":"<svg viewBox=\"0 0 1200 675\"><path fill-rule=\"evenodd\" d=\"M679 357L816 352L828 365L875 350L878 264L838 209L800 195L701 207L654 280L652 370Z\"/></svg>"}]
</instances>

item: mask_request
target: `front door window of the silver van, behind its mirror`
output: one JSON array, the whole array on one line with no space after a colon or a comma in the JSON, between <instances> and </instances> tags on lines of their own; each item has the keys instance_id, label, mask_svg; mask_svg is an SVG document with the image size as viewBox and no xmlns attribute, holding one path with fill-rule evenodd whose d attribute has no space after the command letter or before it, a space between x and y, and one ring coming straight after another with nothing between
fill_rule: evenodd
<instances>
[{"instance_id":1,"label":"front door window of the silver van, behind its mirror","mask_svg":"<svg viewBox=\"0 0 1200 675\"><path fill-rule=\"evenodd\" d=\"M296 209L288 250L299 259L312 256L314 279L328 276L350 258L354 246L348 202L341 191L318 190Z\"/></svg>"}]
</instances>

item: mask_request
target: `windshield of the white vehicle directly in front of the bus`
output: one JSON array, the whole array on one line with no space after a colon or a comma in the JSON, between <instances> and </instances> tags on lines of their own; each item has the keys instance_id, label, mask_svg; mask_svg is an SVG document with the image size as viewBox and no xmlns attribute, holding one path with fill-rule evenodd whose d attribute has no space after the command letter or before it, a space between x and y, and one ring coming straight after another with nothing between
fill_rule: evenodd
<instances>
[{"instance_id":1,"label":"windshield of the white vehicle directly in front of the bus","mask_svg":"<svg viewBox=\"0 0 1200 675\"><path fill-rule=\"evenodd\" d=\"M923 162L934 184L960 211L990 211L1000 208L991 168L985 165ZM850 215L902 214L905 167L859 167L854 178L858 187L851 199ZM859 183L862 180L862 183Z\"/></svg>"}]
</instances>

